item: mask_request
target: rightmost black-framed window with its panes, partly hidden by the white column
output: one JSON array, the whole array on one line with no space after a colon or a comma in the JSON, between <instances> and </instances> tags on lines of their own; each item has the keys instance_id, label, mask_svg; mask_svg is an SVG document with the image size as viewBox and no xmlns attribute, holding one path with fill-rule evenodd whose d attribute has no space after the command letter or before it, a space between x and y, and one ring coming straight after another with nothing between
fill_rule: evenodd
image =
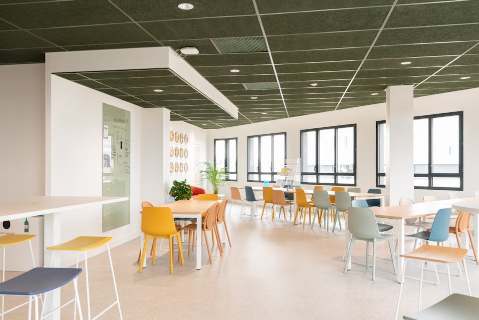
<instances>
[{"instance_id":1,"label":"rightmost black-framed window with its panes, partly hidden by the white column","mask_svg":"<svg viewBox=\"0 0 479 320\"><path fill-rule=\"evenodd\" d=\"M414 187L463 190L463 112L414 117ZM377 122L377 186L384 187L385 121Z\"/></svg>"}]
</instances>

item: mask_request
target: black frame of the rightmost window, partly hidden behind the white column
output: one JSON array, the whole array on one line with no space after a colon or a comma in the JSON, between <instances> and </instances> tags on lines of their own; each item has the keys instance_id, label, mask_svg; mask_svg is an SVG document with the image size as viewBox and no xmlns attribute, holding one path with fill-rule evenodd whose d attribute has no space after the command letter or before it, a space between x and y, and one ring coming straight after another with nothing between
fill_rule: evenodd
<instances>
[{"instance_id":1,"label":"black frame of the rightmost window, partly hidden behind the white column","mask_svg":"<svg viewBox=\"0 0 479 320\"><path fill-rule=\"evenodd\" d=\"M433 173L433 119L449 116L459 116L459 173ZM455 111L455 112L446 112L446 113L436 113L429 115L422 115L414 117L414 120L417 119L428 119L428 133L429 133L429 146L428 146L428 173L415 173L414 177L427 177L428 186L414 186L414 189L425 189L425 190L454 190L454 191L463 191L464 190L464 111ZM376 121L376 186L385 187L385 185L379 184L379 177L386 176L386 174L378 173L379 166L379 124L386 123L385 120ZM433 187L433 178L459 178L460 186L458 188L451 187Z\"/></svg>"}]
</instances>

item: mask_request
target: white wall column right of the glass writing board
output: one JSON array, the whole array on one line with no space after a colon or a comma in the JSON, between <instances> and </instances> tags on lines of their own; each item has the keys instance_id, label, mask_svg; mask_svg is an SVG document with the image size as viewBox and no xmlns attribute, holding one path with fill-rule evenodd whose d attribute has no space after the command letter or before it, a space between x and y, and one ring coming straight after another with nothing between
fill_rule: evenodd
<instances>
[{"instance_id":1,"label":"white wall column right of the glass writing board","mask_svg":"<svg viewBox=\"0 0 479 320\"><path fill-rule=\"evenodd\" d=\"M145 108L141 130L142 201L158 206L170 190L170 110Z\"/></svg>"}]
</instances>

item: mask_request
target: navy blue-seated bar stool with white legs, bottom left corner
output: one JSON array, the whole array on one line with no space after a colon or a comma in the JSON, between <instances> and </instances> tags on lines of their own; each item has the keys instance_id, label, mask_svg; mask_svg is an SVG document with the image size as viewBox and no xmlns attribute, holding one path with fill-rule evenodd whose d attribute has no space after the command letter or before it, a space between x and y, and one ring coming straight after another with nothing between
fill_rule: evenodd
<instances>
[{"instance_id":1,"label":"navy blue-seated bar stool with white legs, bottom left corner","mask_svg":"<svg viewBox=\"0 0 479 320\"><path fill-rule=\"evenodd\" d=\"M80 299L78 298L76 279L80 273L81 269L73 268L33 268L30 271L27 271L13 279L2 282L0 284L0 295L27 296L28 302L2 312L1 316L28 304L28 320L31 320L31 305L33 302L35 314L34 319L44 319L56 311L53 310L45 315L45 301L47 299L46 294L73 281L75 298L62 305L59 309L71 304L72 302L75 302L76 306L78 307L79 318L80 320L83 320L80 308ZM39 315L38 299L43 293L45 294L45 297L43 299L41 314Z\"/></svg>"}]
</instances>

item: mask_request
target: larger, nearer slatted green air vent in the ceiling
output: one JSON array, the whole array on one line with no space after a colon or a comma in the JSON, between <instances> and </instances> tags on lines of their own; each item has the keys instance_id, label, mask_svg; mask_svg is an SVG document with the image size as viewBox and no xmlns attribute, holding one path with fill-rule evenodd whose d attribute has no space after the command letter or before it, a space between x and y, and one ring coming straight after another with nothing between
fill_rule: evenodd
<instances>
[{"instance_id":1,"label":"larger, nearer slatted green air vent in the ceiling","mask_svg":"<svg viewBox=\"0 0 479 320\"><path fill-rule=\"evenodd\" d=\"M267 52L262 36L211 39L220 53Z\"/></svg>"}]
</instances>

